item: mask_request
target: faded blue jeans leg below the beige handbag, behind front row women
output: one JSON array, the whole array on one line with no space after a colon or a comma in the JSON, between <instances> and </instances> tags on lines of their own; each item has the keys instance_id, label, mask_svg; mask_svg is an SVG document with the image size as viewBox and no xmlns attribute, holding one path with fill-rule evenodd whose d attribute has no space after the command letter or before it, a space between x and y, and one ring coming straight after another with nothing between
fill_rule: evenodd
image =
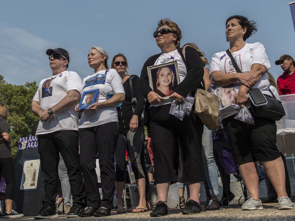
<instances>
[{"instance_id":1,"label":"faded blue jeans leg below the beige handbag, behind front row women","mask_svg":"<svg viewBox=\"0 0 295 221\"><path fill-rule=\"evenodd\" d=\"M202 160L206 175L206 180L209 187L210 196L218 195L218 173L217 166L213 157L213 139L212 131L204 126L202 136Z\"/></svg>"}]
</instances>

